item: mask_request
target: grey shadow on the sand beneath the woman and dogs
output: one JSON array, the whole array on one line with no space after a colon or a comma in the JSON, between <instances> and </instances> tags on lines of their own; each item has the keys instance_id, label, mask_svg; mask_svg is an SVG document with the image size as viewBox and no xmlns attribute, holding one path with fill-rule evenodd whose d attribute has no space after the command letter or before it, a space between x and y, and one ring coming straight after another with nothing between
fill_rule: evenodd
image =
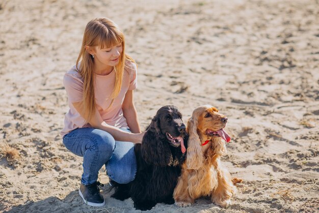
<instances>
[{"instance_id":1,"label":"grey shadow on the sand beneath the woman and dogs","mask_svg":"<svg viewBox=\"0 0 319 213\"><path fill-rule=\"evenodd\" d=\"M12 207L10 210L4 211L4 213L78 213L78 212L126 212L126 213L136 213L136 212L144 212L141 210L136 210L134 208L133 201L129 198L125 201L120 201L111 198L113 194L113 190L110 192L108 190L101 191L105 199L105 205L102 207L92 207L86 205L82 198L78 195L78 190L74 190L70 192L64 199L59 199L58 197L48 197L44 200L40 200L37 202L28 202L25 204L20 204L17 206ZM206 212L207 209L211 207L217 207L214 204L211 204L209 199L199 199L196 204L193 206L183 208L177 207L175 205L167 205L163 203L156 204L149 211L145 212L188 212L188 213L195 213L195 212ZM218 207L217 207L218 208ZM221 209L219 209L221 210ZM216 212L216 211L214 211ZM224 210L217 211L217 212L224 212Z\"/></svg>"}]
</instances>

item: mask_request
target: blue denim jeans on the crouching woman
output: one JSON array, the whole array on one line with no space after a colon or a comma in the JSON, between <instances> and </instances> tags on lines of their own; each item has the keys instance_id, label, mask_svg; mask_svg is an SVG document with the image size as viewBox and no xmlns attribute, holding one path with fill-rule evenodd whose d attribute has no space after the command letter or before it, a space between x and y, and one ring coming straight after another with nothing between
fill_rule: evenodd
<instances>
[{"instance_id":1,"label":"blue denim jeans on the crouching woman","mask_svg":"<svg viewBox=\"0 0 319 213\"><path fill-rule=\"evenodd\" d=\"M130 132L128 129L122 130ZM84 185L96 182L103 164L108 176L118 183L128 183L135 178L137 162L134 143L116 141L103 130L79 128L64 135L63 144L73 154L83 157L81 182Z\"/></svg>"}]
</instances>

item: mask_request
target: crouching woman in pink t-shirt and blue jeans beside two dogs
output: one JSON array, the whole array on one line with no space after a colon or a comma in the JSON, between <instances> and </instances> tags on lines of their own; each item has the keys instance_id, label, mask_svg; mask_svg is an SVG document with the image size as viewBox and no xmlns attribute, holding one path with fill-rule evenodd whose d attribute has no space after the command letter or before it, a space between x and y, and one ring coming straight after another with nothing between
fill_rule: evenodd
<instances>
[{"instance_id":1,"label":"crouching woman in pink t-shirt and blue jeans beside two dogs","mask_svg":"<svg viewBox=\"0 0 319 213\"><path fill-rule=\"evenodd\" d=\"M88 205L105 203L97 182L103 164L113 183L135 178L134 143L144 134L133 102L136 75L116 24L108 18L89 21L76 65L63 79L70 109L61 132L65 147L83 156L79 195Z\"/></svg>"}]
</instances>

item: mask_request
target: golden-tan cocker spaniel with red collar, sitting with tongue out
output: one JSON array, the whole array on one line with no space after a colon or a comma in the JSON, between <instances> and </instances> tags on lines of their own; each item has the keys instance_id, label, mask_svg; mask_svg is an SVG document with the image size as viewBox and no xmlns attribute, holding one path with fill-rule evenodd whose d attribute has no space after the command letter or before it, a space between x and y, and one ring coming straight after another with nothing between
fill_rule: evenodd
<instances>
[{"instance_id":1,"label":"golden-tan cocker spaniel with red collar, sitting with tongue out","mask_svg":"<svg viewBox=\"0 0 319 213\"><path fill-rule=\"evenodd\" d=\"M226 154L225 141L230 136L223 129L227 117L210 105L197 107L187 126L189 133L187 159L182 165L181 176L174 190L175 204L189 206L195 199L209 196L211 201L222 207L231 204L237 182L221 164Z\"/></svg>"}]
</instances>

